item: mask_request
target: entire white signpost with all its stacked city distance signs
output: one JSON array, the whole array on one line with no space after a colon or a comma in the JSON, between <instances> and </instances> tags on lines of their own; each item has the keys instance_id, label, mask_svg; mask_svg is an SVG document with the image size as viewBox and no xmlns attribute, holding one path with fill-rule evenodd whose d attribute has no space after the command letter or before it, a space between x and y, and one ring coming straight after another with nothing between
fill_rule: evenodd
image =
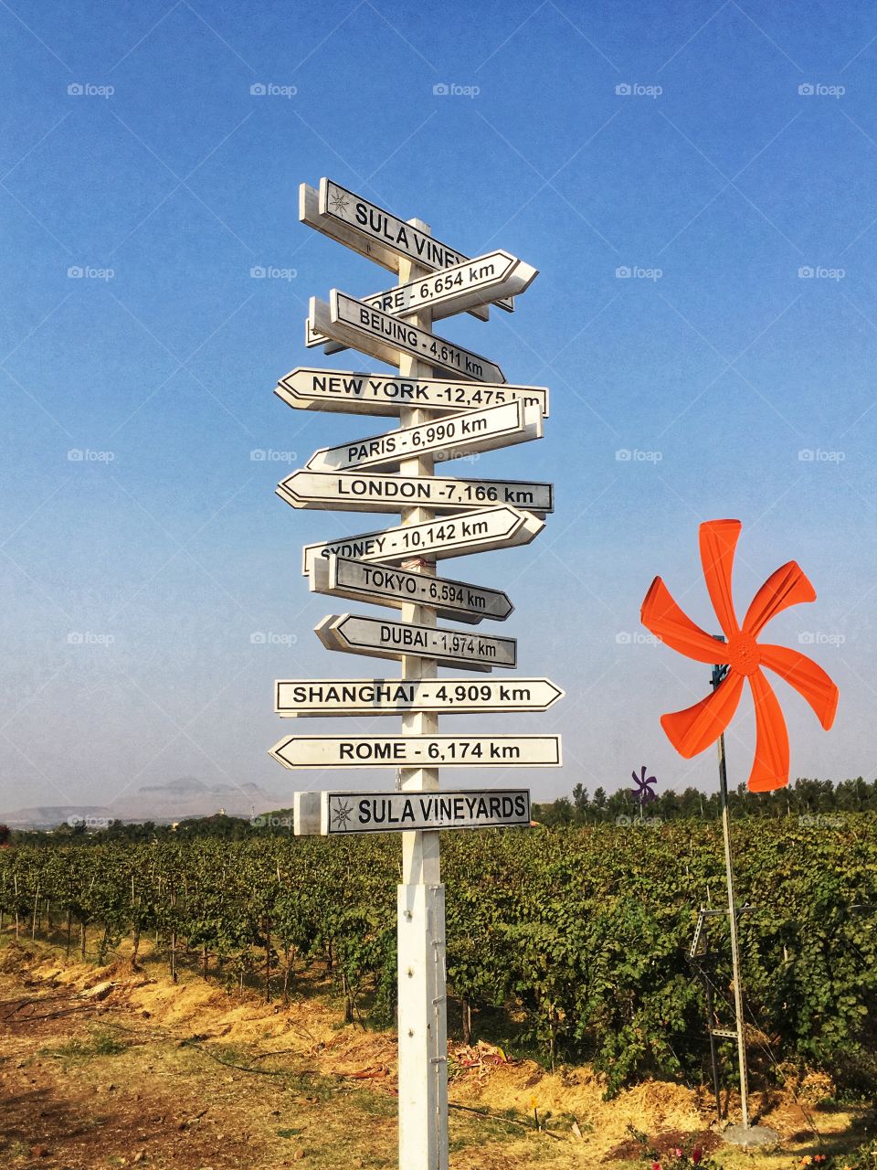
<instances>
[{"instance_id":1,"label":"entire white signpost with all its stacked city distance signs","mask_svg":"<svg viewBox=\"0 0 877 1170\"><path fill-rule=\"evenodd\" d=\"M401 523L304 550L315 592L389 606L400 621L331 614L317 627L333 651L389 658L399 679L279 680L286 717L398 715L401 735L288 736L271 749L286 768L395 769L387 792L297 792L295 833L402 835L398 887L399 1164L448 1165L444 887L438 831L530 825L526 789L440 791L438 769L557 766L558 736L440 735L438 714L545 710L562 697L547 679L507 684L442 677L517 666L517 644L438 626L504 621L504 593L436 576L436 560L529 543L553 509L553 488L526 481L437 477L435 464L541 438L543 386L512 386L499 366L433 333L433 321L511 311L536 269L505 252L476 260L329 179L302 185L299 218L391 271L399 284L355 300L337 289L311 301L306 345L354 346L398 374L297 369L277 394L304 410L395 415L400 427L317 452L278 486L294 508L395 512Z\"/></svg>"}]
</instances>

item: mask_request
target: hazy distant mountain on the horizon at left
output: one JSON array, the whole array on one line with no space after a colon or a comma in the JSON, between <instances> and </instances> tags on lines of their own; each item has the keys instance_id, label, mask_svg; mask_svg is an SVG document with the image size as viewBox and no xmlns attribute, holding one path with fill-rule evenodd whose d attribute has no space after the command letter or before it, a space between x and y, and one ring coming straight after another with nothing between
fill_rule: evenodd
<instances>
[{"instance_id":1,"label":"hazy distant mountain on the horizon at left","mask_svg":"<svg viewBox=\"0 0 877 1170\"><path fill-rule=\"evenodd\" d=\"M223 808L229 817L250 817L279 803L275 792L258 784L205 784L184 776L168 784L145 784L109 805L40 805L0 813L0 823L11 828L53 828L70 818L106 820L154 820L168 824L185 817L210 817Z\"/></svg>"}]
</instances>

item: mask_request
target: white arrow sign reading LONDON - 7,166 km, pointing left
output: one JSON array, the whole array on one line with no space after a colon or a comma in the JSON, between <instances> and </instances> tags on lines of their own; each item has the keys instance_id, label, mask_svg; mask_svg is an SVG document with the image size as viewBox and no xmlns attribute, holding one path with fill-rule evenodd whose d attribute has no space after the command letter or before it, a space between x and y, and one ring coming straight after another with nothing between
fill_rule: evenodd
<instances>
[{"instance_id":1,"label":"white arrow sign reading LONDON - 7,166 km, pointing left","mask_svg":"<svg viewBox=\"0 0 877 1170\"><path fill-rule=\"evenodd\" d=\"M512 504L537 516L554 510L553 484L527 480L299 470L281 480L276 493L292 508L331 511L398 512L403 508L430 508L456 512L496 503Z\"/></svg>"}]
</instances>

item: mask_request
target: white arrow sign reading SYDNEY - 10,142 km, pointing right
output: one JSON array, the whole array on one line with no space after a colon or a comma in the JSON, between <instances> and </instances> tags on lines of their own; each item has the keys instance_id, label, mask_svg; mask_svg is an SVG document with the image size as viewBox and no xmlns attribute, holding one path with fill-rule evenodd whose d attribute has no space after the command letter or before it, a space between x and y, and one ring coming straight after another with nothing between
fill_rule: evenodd
<instances>
[{"instance_id":1,"label":"white arrow sign reading SYDNEY - 10,142 km, pointing right","mask_svg":"<svg viewBox=\"0 0 877 1170\"><path fill-rule=\"evenodd\" d=\"M337 556L389 563L410 557L427 557L430 560L465 557L470 552L490 552L493 549L530 544L544 528L545 521L532 512L504 504L424 524L400 524L379 532L305 544L302 550L302 572L308 576L316 557Z\"/></svg>"}]
</instances>

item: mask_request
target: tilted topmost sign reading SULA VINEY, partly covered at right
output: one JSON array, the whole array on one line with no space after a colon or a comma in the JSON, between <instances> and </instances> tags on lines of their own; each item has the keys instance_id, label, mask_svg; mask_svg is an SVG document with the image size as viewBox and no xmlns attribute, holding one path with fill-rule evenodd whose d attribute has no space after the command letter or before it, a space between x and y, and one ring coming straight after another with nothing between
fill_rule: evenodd
<instances>
[{"instance_id":1,"label":"tilted topmost sign reading SULA VINEY, partly covered at right","mask_svg":"<svg viewBox=\"0 0 877 1170\"><path fill-rule=\"evenodd\" d=\"M306 183L301 184L298 218L392 273L399 271L400 259L415 260L421 268L430 271L469 259L331 179L319 180L319 192ZM511 301L498 301L497 304L507 312L515 308ZM471 311L476 316L483 315L479 309Z\"/></svg>"}]
</instances>

